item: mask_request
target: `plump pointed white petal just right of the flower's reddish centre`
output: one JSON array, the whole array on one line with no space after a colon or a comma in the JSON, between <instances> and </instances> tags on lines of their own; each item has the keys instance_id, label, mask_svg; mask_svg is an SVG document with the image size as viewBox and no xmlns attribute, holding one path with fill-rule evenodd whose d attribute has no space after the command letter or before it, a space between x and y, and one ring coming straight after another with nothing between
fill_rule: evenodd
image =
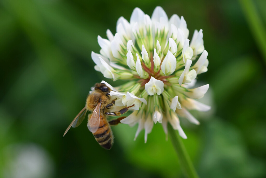
<instances>
[{"instance_id":1,"label":"plump pointed white petal just right of the flower's reddish centre","mask_svg":"<svg viewBox=\"0 0 266 178\"><path fill-rule=\"evenodd\" d=\"M161 69L165 75L171 75L176 70L176 57L168 50Z\"/></svg>"}]
</instances>

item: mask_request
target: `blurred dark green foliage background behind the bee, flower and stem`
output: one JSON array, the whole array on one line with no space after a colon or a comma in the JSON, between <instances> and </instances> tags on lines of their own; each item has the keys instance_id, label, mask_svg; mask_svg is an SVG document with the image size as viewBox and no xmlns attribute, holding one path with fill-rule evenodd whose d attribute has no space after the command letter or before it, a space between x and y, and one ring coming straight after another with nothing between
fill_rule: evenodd
<instances>
[{"instance_id":1,"label":"blurred dark green foliage background behind the bee, flower and stem","mask_svg":"<svg viewBox=\"0 0 266 178\"><path fill-rule=\"evenodd\" d=\"M160 5L183 15L189 39L203 29L210 84L193 112L181 118L184 144L200 177L266 177L266 1L0 1L0 177L184 177L171 141L156 124L144 144L136 126L113 127L102 149L85 123L63 133L96 82L90 54L97 35L115 33L135 7L150 15ZM114 86L122 81L112 82Z\"/></svg>"}]
</instances>

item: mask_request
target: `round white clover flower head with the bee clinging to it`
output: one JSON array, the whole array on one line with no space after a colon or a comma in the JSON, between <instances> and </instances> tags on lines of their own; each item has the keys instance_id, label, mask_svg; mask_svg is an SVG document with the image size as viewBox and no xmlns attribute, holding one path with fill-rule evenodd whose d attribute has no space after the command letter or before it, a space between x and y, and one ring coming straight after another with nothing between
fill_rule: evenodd
<instances>
[{"instance_id":1,"label":"round white clover flower head with the bee clinging to it","mask_svg":"<svg viewBox=\"0 0 266 178\"><path fill-rule=\"evenodd\" d=\"M139 8L133 10L129 22L120 17L116 32L113 35L108 29L108 39L98 36L100 54L92 52L92 59L95 70L104 77L128 80L112 87L110 92L117 98L116 106L135 105L121 123L130 126L138 123L135 139L145 129L145 143L157 122L162 124L166 135L169 122L186 139L179 117L199 124L189 110L210 109L195 100L204 96L209 85L193 88L197 75L207 72L209 64L202 29L194 31L189 44L184 17L174 14L168 19L158 6L151 17Z\"/></svg>"}]
</instances>

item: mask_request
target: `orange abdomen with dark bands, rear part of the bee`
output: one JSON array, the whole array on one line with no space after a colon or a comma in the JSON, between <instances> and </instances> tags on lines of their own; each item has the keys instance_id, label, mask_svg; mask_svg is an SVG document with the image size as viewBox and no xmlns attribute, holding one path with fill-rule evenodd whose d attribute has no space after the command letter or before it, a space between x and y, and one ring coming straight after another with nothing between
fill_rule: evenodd
<instances>
[{"instance_id":1,"label":"orange abdomen with dark bands, rear part of the bee","mask_svg":"<svg viewBox=\"0 0 266 178\"><path fill-rule=\"evenodd\" d=\"M109 123L106 120L106 117L102 114L99 128L93 133L93 136L104 149L111 149L113 145L113 133Z\"/></svg>"}]
</instances>

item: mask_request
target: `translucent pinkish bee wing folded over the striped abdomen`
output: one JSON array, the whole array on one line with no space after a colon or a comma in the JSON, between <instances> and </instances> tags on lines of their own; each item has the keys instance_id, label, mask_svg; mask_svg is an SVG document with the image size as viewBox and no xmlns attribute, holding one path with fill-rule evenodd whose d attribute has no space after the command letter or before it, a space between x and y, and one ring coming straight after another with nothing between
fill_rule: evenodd
<instances>
[{"instance_id":1,"label":"translucent pinkish bee wing folded over the striped abdomen","mask_svg":"<svg viewBox=\"0 0 266 178\"><path fill-rule=\"evenodd\" d=\"M99 125L100 125L100 109L101 109L102 103L99 102L98 105L95 107L93 110L92 116L90 117L88 121L88 129L94 133L98 130Z\"/></svg>"}]
</instances>

